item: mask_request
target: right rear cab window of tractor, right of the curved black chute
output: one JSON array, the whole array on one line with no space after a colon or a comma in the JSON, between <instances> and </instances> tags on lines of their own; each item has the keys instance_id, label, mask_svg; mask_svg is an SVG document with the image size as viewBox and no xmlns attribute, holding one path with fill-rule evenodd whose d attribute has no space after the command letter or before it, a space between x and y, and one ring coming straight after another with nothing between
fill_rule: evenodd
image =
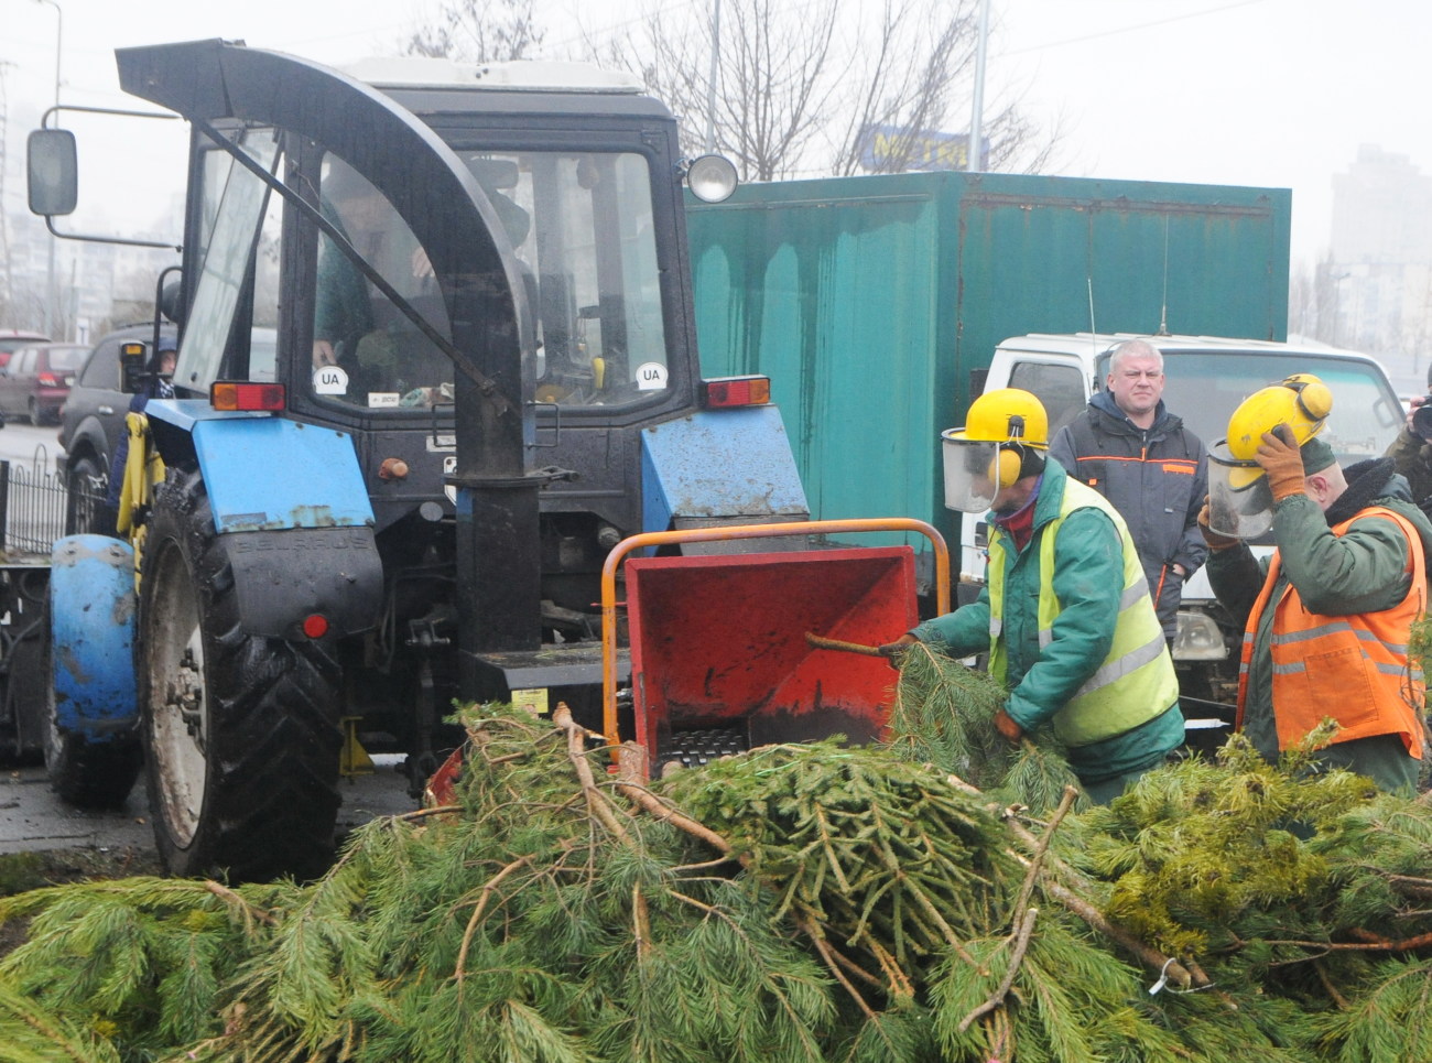
<instances>
[{"instance_id":1,"label":"right rear cab window of tractor, right of the curved black chute","mask_svg":"<svg viewBox=\"0 0 1432 1063\"><path fill-rule=\"evenodd\" d=\"M634 152L461 152L517 254L534 398L633 403L669 387L652 179Z\"/></svg>"}]
</instances>

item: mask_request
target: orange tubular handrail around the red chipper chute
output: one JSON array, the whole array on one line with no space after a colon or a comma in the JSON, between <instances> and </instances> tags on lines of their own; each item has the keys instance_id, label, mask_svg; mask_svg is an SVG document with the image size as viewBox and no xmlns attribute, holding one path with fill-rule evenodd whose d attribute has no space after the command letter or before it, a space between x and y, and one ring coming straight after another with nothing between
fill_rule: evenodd
<instances>
[{"instance_id":1,"label":"orange tubular handrail around the red chipper chute","mask_svg":"<svg viewBox=\"0 0 1432 1063\"><path fill-rule=\"evenodd\" d=\"M684 532L643 532L623 539L601 566L601 729L610 745L620 744L617 733L617 569L633 550L672 543L726 542L732 539L770 539L773 536L825 536L852 532L918 532L935 549L935 607L949 612L949 547L934 526L912 517L871 517L865 520L806 520L780 524L726 524Z\"/></svg>"}]
</instances>

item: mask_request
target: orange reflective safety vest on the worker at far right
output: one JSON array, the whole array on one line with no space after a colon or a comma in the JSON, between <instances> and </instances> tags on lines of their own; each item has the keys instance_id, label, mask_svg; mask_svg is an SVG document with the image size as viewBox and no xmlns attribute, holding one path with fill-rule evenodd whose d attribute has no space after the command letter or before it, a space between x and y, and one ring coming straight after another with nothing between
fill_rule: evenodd
<instances>
[{"instance_id":1,"label":"orange reflective safety vest on the worker at far right","mask_svg":"<svg viewBox=\"0 0 1432 1063\"><path fill-rule=\"evenodd\" d=\"M1422 759L1422 722L1419 712L1425 696L1422 672L1408 663L1408 638L1412 622L1426 606L1426 557L1422 537L1412 523L1382 506L1363 510L1358 517L1333 527L1343 534L1353 520L1376 514L1392 520L1408 540L1408 564L1412 587L1402 602L1378 613L1322 616L1303 606L1297 587L1287 590L1273 606L1273 721L1277 748L1287 749L1309 731L1332 716L1342 723L1337 742L1373 735L1400 735L1408 755ZM1249 662L1259 617L1267 607L1277 582L1279 554L1267 566L1263 590L1253 603L1243 630L1243 658L1239 666L1239 711L1234 726L1243 726L1247 698Z\"/></svg>"}]
</instances>

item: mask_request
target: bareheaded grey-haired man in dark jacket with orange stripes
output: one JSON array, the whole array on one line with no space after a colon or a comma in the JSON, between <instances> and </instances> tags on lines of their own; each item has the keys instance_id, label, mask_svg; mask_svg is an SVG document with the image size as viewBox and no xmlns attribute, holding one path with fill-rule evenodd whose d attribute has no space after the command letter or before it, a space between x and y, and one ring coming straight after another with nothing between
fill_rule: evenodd
<instances>
[{"instance_id":1,"label":"bareheaded grey-haired man in dark jacket with orange stripes","mask_svg":"<svg viewBox=\"0 0 1432 1063\"><path fill-rule=\"evenodd\" d=\"M1199 509L1209 493L1209 458L1183 418L1163 404L1163 354L1144 340L1118 344L1107 390L1050 443L1050 457L1114 504L1134 537L1148 593L1173 642L1183 583L1207 550Z\"/></svg>"}]
</instances>

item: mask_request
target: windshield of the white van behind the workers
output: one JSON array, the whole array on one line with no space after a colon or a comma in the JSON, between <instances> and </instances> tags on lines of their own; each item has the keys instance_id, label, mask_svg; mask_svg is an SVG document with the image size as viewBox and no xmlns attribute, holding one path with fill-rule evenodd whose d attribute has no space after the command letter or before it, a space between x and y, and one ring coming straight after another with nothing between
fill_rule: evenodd
<instances>
[{"instance_id":1,"label":"windshield of the white van behind the workers","mask_svg":"<svg viewBox=\"0 0 1432 1063\"><path fill-rule=\"evenodd\" d=\"M1293 372L1312 372L1333 393L1322 437L1343 466L1380 457L1403 423L1402 404L1376 367L1317 354L1164 354L1164 405L1179 414L1204 446L1229 434L1229 417L1259 388ZM1101 371L1100 380L1107 375Z\"/></svg>"}]
</instances>

